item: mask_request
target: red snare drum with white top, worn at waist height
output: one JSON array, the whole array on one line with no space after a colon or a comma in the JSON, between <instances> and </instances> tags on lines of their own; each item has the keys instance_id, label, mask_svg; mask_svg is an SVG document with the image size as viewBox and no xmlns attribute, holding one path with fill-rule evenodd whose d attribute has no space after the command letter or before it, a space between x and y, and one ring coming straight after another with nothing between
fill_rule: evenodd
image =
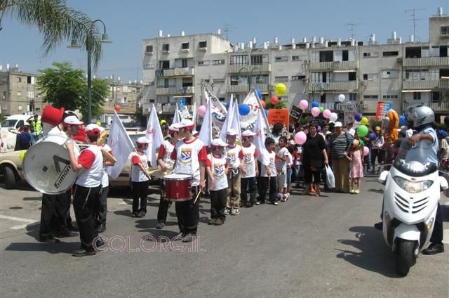
<instances>
[{"instance_id":1,"label":"red snare drum with white top, worn at waist height","mask_svg":"<svg viewBox=\"0 0 449 298\"><path fill-rule=\"evenodd\" d=\"M166 184L166 199L175 202L192 200L192 176L169 174L163 177Z\"/></svg>"}]
</instances>

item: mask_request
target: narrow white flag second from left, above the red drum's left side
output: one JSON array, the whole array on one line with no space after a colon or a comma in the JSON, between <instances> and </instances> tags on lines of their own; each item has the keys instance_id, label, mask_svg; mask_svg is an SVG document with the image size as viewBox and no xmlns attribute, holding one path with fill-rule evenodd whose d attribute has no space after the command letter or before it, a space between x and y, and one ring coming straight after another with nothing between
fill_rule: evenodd
<instances>
[{"instance_id":1,"label":"narrow white flag second from left, above the red drum's left side","mask_svg":"<svg viewBox=\"0 0 449 298\"><path fill-rule=\"evenodd\" d=\"M149 140L145 154L147 155L148 161L151 162L152 167L157 167L157 153L159 152L159 147L161 147L161 144L163 143L163 134L156 109L154 108L154 103L152 111L149 113L145 137Z\"/></svg>"}]
</instances>

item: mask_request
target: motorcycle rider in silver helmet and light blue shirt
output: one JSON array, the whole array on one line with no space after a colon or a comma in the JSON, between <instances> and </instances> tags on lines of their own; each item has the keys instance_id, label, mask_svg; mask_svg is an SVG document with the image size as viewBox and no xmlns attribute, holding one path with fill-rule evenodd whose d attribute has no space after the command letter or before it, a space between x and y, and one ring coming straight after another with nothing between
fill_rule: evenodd
<instances>
[{"instance_id":1,"label":"motorcycle rider in silver helmet and light blue shirt","mask_svg":"<svg viewBox=\"0 0 449 298\"><path fill-rule=\"evenodd\" d=\"M431 108L425 105L411 105L406 110L406 117L410 124L412 124L413 129L418 131L408 138L408 144L410 146L415 145L420 141L427 141L429 145L427 162L431 162L438 165L438 138L436 136L436 131L433 127L435 121L435 114ZM415 150L410 148L407 155L415 154ZM384 212L384 207L382 205L382 214ZM381 214L381 217L382 217ZM374 225L375 228L382 230L382 221ZM435 225L434 231L432 232L430 238L430 245L427 249L422 251L422 254L438 254L444 252L443 245L443 219L441 217L441 205L438 202L438 207L436 209Z\"/></svg>"}]
</instances>

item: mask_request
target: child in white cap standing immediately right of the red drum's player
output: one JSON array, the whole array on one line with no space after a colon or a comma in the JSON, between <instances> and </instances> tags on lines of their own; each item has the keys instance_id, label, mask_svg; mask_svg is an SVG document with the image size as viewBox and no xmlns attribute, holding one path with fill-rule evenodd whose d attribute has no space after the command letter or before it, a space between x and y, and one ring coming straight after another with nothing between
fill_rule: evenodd
<instances>
[{"instance_id":1,"label":"child in white cap standing immediately right of the red drum's player","mask_svg":"<svg viewBox=\"0 0 449 298\"><path fill-rule=\"evenodd\" d=\"M227 171L228 163L225 155L227 143L215 138L210 143L212 153L206 161L206 172L209 176L210 190L210 220L208 224L220 226L225 224L227 200Z\"/></svg>"}]
</instances>

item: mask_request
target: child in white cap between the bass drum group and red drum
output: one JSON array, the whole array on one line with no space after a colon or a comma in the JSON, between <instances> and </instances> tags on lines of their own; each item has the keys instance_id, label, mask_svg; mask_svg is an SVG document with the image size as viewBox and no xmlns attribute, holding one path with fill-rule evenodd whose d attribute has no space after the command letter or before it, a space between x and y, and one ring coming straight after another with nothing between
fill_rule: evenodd
<instances>
[{"instance_id":1,"label":"child in white cap between the bass drum group and red drum","mask_svg":"<svg viewBox=\"0 0 449 298\"><path fill-rule=\"evenodd\" d=\"M147 214L148 186L151 177L148 173L148 160L144 151L149 140L141 136L135 141L137 148L131 154L131 192L133 193L133 217L143 217ZM140 204L139 204L140 200Z\"/></svg>"}]
</instances>

